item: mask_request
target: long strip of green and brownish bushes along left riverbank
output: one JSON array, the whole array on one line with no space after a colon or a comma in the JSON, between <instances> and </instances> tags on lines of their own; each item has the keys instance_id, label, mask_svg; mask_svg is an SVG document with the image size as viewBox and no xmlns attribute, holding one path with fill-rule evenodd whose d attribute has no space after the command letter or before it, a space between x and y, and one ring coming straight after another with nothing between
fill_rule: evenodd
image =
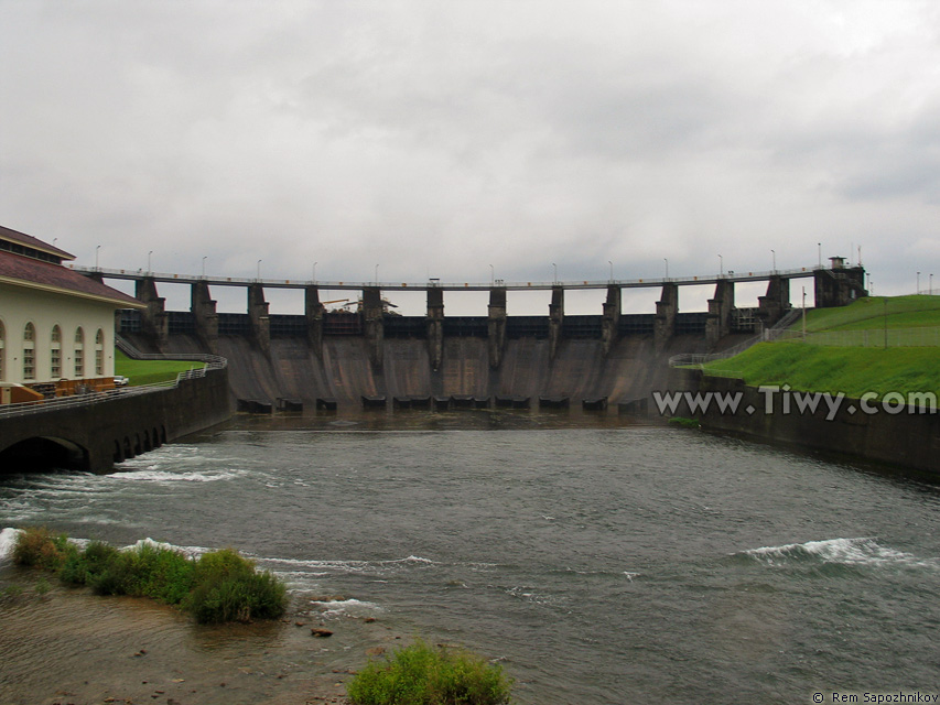
<instances>
[{"instance_id":1,"label":"long strip of green and brownish bushes along left riverbank","mask_svg":"<svg viewBox=\"0 0 940 705\"><path fill-rule=\"evenodd\" d=\"M155 543L119 551L91 541L83 549L65 534L32 527L17 538L12 557L98 595L150 597L177 606L199 623L273 619L287 609L284 584L231 549L199 557Z\"/></svg>"}]
</instances>

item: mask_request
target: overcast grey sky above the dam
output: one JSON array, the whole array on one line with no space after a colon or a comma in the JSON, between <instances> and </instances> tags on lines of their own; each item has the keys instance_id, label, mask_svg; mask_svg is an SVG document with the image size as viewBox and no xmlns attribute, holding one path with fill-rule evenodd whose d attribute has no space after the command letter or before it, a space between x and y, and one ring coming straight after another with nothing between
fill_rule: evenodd
<instances>
[{"instance_id":1,"label":"overcast grey sky above the dam","mask_svg":"<svg viewBox=\"0 0 940 705\"><path fill-rule=\"evenodd\" d=\"M0 224L83 265L581 281L861 247L875 294L940 289L931 0L0 0Z\"/></svg>"}]
</instances>

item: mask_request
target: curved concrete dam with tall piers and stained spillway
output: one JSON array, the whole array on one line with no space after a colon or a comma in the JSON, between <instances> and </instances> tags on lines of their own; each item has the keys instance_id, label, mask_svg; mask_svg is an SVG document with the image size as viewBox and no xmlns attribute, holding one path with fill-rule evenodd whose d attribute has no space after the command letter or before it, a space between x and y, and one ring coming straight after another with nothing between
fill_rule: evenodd
<instances>
[{"instance_id":1,"label":"curved concrete dam with tall piers and stained spillway","mask_svg":"<svg viewBox=\"0 0 940 705\"><path fill-rule=\"evenodd\" d=\"M78 269L78 268L76 268ZM865 272L832 258L832 267L721 274L712 278L607 282L419 284L299 282L183 276L79 269L96 279L134 282L145 308L119 314L118 330L144 352L210 354L228 359L231 402L262 409L290 403L321 410L365 405L583 405L641 400L667 382L670 356L712 352L755 338L792 308L790 281L810 278L815 305L835 306L866 295ZM758 306L737 307L735 283L766 281ZM191 288L188 311L166 311L161 283ZM680 311L680 290L714 285L707 311ZM210 288L246 291L245 313L218 313ZM304 313L270 314L266 289L301 289ZM625 289L648 289L656 313L625 314ZM606 291L596 315L565 315L565 292ZM355 312L329 312L321 290L353 290ZM426 315L390 312L383 292L426 293ZM512 316L507 292L551 293L544 316ZM483 316L446 316L447 291L488 291Z\"/></svg>"}]
</instances>

